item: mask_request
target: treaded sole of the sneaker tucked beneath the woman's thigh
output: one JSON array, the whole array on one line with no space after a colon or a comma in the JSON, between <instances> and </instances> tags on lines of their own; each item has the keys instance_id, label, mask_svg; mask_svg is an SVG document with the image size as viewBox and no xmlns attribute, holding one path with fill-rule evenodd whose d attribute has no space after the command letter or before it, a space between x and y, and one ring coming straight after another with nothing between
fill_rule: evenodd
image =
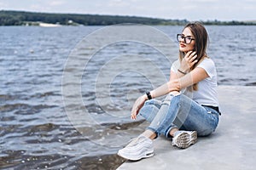
<instances>
[{"instance_id":1,"label":"treaded sole of the sneaker tucked beneath the woman's thigh","mask_svg":"<svg viewBox=\"0 0 256 170\"><path fill-rule=\"evenodd\" d=\"M189 133L181 133L177 139L175 139L176 142L172 142L172 145L177 145L178 148L188 148L189 145L195 144L197 140L197 133L196 131L193 131L191 135Z\"/></svg>"}]
</instances>

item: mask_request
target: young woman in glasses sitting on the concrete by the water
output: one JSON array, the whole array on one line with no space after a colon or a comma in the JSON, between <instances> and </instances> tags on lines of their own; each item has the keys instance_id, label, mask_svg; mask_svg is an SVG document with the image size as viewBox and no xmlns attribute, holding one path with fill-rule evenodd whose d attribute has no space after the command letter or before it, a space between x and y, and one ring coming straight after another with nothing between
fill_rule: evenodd
<instances>
[{"instance_id":1,"label":"young woman in glasses sitting on the concrete by the water","mask_svg":"<svg viewBox=\"0 0 256 170\"><path fill-rule=\"evenodd\" d=\"M150 125L118 155L140 160L154 155L152 140L160 134L172 145L187 148L197 135L207 136L218 126L217 73L207 56L208 35L199 22L189 23L177 34L180 56L172 64L169 82L139 97L131 118L143 116ZM154 99L166 95L163 101Z\"/></svg>"}]
</instances>

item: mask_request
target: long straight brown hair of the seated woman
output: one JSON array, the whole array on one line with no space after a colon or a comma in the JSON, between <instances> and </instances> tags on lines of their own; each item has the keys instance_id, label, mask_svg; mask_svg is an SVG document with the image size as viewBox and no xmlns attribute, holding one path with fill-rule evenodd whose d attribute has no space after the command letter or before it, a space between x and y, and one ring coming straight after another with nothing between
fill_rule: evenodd
<instances>
[{"instance_id":1,"label":"long straight brown hair of the seated woman","mask_svg":"<svg viewBox=\"0 0 256 170\"><path fill-rule=\"evenodd\" d=\"M201 63L203 59L207 57L207 43L208 43L208 34L207 30L200 22L191 22L184 26L185 28L189 28L192 32L192 35L195 37L195 47L194 51L197 54L197 63L190 68L190 71L194 70L197 65ZM179 59L180 61L184 57L184 53L179 51ZM198 86L197 83L193 84L193 90L197 90Z\"/></svg>"}]
</instances>

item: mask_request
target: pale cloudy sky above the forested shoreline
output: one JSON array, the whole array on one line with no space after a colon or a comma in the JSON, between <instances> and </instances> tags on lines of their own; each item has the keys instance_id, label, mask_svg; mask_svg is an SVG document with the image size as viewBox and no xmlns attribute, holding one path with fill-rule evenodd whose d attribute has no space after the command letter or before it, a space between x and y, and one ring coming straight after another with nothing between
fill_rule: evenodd
<instances>
[{"instance_id":1,"label":"pale cloudy sky above the forested shoreline","mask_svg":"<svg viewBox=\"0 0 256 170\"><path fill-rule=\"evenodd\" d=\"M256 20L256 0L0 0L0 10L171 20Z\"/></svg>"}]
</instances>

